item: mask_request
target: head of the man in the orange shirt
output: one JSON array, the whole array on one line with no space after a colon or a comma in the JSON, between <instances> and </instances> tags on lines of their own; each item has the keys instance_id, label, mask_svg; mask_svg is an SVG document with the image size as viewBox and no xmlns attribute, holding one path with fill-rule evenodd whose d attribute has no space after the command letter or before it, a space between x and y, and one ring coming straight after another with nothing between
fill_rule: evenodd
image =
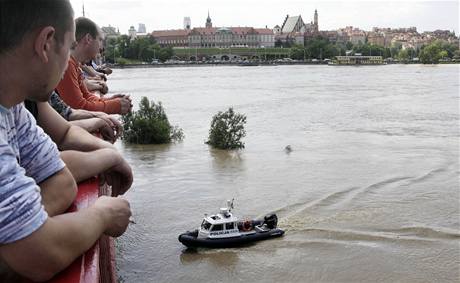
<instances>
[{"instance_id":1,"label":"head of the man in the orange shirt","mask_svg":"<svg viewBox=\"0 0 460 283\"><path fill-rule=\"evenodd\" d=\"M75 38L81 54L87 61L94 60L102 49L101 30L88 18L80 17L75 20Z\"/></svg>"}]
</instances>

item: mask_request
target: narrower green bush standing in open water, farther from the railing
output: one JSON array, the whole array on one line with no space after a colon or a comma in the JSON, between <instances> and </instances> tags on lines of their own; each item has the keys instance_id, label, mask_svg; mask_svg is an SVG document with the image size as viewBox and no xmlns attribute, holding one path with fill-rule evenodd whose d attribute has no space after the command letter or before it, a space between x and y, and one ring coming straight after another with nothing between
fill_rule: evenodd
<instances>
[{"instance_id":1,"label":"narrower green bush standing in open water, farther from the railing","mask_svg":"<svg viewBox=\"0 0 460 283\"><path fill-rule=\"evenodd\" d=\"M241 141L246 136L244 125L246 116L235 113L230 107L225 112L219 112L212 118L207 144L219 149L244 148Z\"/></svg>"}]
</instances>

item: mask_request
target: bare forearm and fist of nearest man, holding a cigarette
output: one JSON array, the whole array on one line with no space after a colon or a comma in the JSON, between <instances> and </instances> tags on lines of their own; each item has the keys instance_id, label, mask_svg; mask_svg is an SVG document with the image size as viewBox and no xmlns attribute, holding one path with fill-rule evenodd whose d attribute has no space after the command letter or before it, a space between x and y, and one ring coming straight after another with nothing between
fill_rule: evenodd
<instances>
[{"instance_id":1,"label":"bare forearm and fist of nearest man, holding a cigarette","mask_svg":"<svg viewBox=\"0 0 460 283\"><path fill-rule=\"evenodd\" d=\"M113 237L123 234L130 216L126 200L102 196L87 209L48 218L29 236L0 246L0 256L22 276L49 280L103 233Z\"/></svg>"}]
</instances>

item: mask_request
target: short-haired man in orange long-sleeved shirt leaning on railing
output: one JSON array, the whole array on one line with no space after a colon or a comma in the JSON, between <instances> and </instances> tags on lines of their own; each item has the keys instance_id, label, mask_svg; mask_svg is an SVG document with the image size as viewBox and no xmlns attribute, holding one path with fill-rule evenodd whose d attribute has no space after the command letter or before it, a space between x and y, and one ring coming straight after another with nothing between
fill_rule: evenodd
<instances>
[{"instance_id":1,"label":"short-haired man in orange long-sleeved shirt leaning on railing","mask_svg":"<svg viewBox=\"0 0 460 283\"><path fill-rule=\"evenodd\" d=\"M62 100L74 109L107 114L128 113L132 108L128 95L116 94L101 98L91 93L84 83L80 66L96 58L102 47L103 38L99 27L90 19L78 18L75 20L75 38L77 42L72 47L69 66L56 88Z\"/></svg>"}]
</instances>

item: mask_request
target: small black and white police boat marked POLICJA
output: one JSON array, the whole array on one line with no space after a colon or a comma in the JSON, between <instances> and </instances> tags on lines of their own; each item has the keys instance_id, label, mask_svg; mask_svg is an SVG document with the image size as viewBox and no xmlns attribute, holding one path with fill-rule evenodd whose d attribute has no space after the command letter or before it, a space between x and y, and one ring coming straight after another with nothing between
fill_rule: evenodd
<instances>
[{"instance_id":1,"label":"small black and white police boat marked POLICJA","mask_svg":"<svg viewBox=\"0 0 460 283\"><path fill-rule=\"evenodd\" d=\"M187 247L230 248L251 242L280 237L284 231L277 228L278 217L268 214L263 220L238 220L231 212L233 200L214 215L204 216L201 226L179 235Z\"/></svg>"}]
</instances>

